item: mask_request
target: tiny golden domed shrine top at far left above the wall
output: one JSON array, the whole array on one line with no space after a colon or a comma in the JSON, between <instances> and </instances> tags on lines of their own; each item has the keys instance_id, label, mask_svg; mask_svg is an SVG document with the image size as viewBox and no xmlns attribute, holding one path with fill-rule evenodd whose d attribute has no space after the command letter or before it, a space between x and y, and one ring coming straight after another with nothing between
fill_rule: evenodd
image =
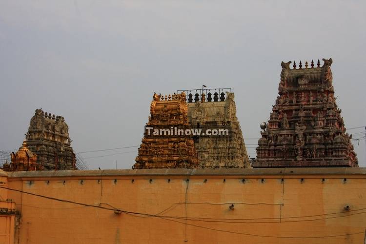
<instances>
[{"instance_id":1,"label":"tiny golden domed shrine top at far left above the wall","mask_svg":"<svg viewBox=\"0 0 366 244\"><path fill-rule=\"evenodd\" d=\"M2 170L4 171L34 171L37 170L37 156L27 147L27 142L24 141L18 152L12 152L11 163L4 163Z\"/></svg>"}]
</instances>

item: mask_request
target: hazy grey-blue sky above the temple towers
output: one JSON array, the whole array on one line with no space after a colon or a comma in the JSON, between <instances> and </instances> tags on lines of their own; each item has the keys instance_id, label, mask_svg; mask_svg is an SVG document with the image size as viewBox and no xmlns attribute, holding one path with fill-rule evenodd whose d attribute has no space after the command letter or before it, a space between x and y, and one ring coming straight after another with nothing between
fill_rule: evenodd
<instances>
[{"instance_id":1,"label":"hazy grey-blue sky above the temple towers","mask_svg":"<svg viewBox=\"0 0 366 244\"><path fill-rule=\"evenodd\" d=\"M362 138L365 26L366 1L0 0L0 150L20 147L37 108L65 118L75 152L140 145L154 92L205 84L233 89L254 157L281 61L322 58ZM365 140L354 147L365 167ZM137 147L81 155L131 168Z\"/></svg>"}]
</instances>

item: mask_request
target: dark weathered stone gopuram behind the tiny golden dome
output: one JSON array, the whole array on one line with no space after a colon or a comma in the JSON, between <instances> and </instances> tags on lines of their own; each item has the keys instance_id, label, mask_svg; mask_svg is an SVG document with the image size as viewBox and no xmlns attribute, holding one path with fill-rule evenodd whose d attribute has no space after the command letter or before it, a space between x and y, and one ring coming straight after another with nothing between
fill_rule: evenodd
<instances>
[{"instance_id":1,"label":"dark weathered stone gopuram behind the tiny golden dome","mask_svg":"<svg viewBox=\"0 0 366 244\"><path fill-rule=\"evenodd\" d=\"M69 127L61 116L36 109L26 134L28 148L36 153L43 170L75 170L76 158L71 147Z\"/></svg>"}]
</instances>

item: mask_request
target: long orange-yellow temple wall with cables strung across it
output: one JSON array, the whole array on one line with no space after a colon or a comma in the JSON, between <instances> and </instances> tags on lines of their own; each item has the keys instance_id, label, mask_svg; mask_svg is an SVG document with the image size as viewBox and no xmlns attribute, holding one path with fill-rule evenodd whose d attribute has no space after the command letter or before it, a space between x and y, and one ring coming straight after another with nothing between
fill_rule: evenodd
<instances>
[{"instance_id":1,"label":"long orange-yellow temple wall with cables strung across it","mask_svg":"<svg viewBox=\"0 0 366 244\"><path fill-rule=\"evenodd\" d=\"M21 215L17 227L13 223L17 244L361 244L365 238L365 168L9 172L7 185L78 203L175 217L117 214L1 188L1 199L12 199ZM212 222L218 219L230 220ZM4 223L0 216L0 240ZM308 238L337 235L344 236Z\"/></svg>"}]
</instances>

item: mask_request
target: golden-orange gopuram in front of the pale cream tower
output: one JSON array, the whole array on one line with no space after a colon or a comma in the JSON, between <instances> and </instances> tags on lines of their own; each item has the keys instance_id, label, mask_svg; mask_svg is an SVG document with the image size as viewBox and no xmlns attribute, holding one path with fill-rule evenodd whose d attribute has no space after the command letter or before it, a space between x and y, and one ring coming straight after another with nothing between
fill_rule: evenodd
<instances>
[{"instance_id":1,"label":"golden-orange gopuram in front of the pale cream tower","mask_svg":"<svg viewBox=\"0 0 366 244\"><path fill-rule=\"evenodd\" d=\"M184 92L168 96L154 94L150 105L151 116L132 168L198 167L192 137L177 133L179 129L190 127L185 100Z\"/></svg>"}]
</instances>

